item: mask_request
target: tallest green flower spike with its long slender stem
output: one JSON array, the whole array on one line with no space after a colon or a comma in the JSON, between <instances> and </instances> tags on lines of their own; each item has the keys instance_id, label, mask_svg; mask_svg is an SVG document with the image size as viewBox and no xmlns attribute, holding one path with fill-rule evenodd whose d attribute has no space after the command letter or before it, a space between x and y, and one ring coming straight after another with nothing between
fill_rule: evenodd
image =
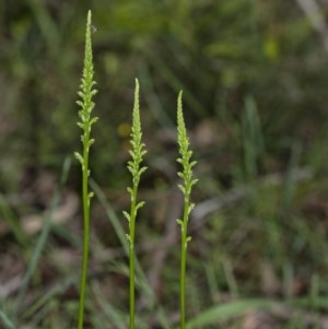
<instances>
[{"instance_id":1,"label":"tallest green flower spike with its long slender stem","mask_svg":"<svg viewBox=\"0 0 328 329\"><path fill-rule=\"evenodd\" d=\"M91 138L92 125L97 120L96 117L92 117L92 110L94 103L93 96L96 94L96 90L93 89L95 82L93 80L93 55L92 55L92 40L91 40L91 11L87 13L86 32L85 32L85 54L81 90L78 92L81 99L77 103L81 107L79 111L80 121L78 126L82 129L81 141L83 144L82 155L75 152L75 156L79 160L82 167L82 202L83 202L83 255L82 255L82 272L80 282L80 301L79 301L79 321L78 329L83 329L84 324L84 305L85 305L85 291L87 279L87 263L89 263L89 249L90 249L90 201L92 192L89 191L89 153L90 148L94 140Z\"/></svg>"}]
</instances>

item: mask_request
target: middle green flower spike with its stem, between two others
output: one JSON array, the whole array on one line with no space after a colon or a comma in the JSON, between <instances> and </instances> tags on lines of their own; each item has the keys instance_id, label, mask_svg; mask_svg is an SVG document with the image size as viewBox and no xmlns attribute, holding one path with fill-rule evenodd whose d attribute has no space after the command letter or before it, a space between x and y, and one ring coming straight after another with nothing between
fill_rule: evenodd
<instances>
[{"instance_id":1,"label":"middle green flower spike with its stem, between two others","mask_svg":"<svg viewBox=\"0 0 328 329\"><path fill-rule=\"evenodd\" d=\"M131 145L132 150L130 151L131 160L128 162L128 169L132 175L132 187L128 188L128 192L131 198L131 208L130 213L124 211L125 218L129 222L129 233L127 238L129 242L129 308L130 308L130 321L129 328L134 329L134 317L136 317L136 280L134 280L134 261L136 261L136 251L134 251L134 237L136 237L136 219L138 210L144 204L144 202L138 202L138 187L140 181L141 174L147 169L147 167L141 166L147 151L144 150L144 144L141 141L142 131L140 122L140 113L139 113L139 82L136 79L136 91L134 91L134 105L132 113L132 132L131 132Z\"/></svg>"}]
</instances>

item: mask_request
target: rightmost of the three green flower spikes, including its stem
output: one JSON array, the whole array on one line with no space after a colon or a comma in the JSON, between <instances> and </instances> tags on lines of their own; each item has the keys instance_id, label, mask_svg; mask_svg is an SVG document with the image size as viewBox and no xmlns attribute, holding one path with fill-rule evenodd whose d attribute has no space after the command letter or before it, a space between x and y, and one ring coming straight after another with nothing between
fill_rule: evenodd
<instances>
[{"instance_id":1,"label":"rightmost of the three green flower spikes, including its stem","mask_svg":"<svg viewBox=\"0 0 328 329\"><path fill-rule=\"evenodd\" d=\"M181 164L183 171L178 173L178 176L183 179L183 185L178 185L184 195L184 214L183 219L178 219L177 223L181 230L181 246L180 246L180 329L186 328L186 265L187 265L187 245L191 239L188 236L188 220L189 214L194 208L194 203L190 202L191 188L197 183L197 179L192 178L192 167L196 165L195 161L191 161L192 151L189 150L189 139L183 114L183 93L179 93L177 104L177 141L179 145L179 157L177 162Z\"/></svg>"}]
</instances>

